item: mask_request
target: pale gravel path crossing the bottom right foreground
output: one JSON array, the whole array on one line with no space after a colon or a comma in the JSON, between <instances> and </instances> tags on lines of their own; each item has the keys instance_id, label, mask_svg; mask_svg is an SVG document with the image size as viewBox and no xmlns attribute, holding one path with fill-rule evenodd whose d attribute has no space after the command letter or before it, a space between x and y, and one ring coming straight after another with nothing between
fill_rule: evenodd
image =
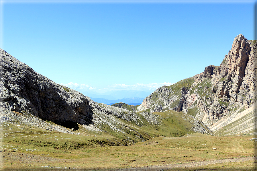
<instances>
[{"instance_id":1,"label":"pale gravel path crossing the bottom right foreground","mask_svg":"<svg viewBox=\"0 0 257 171\"><path fill-rule=\"evenodd\" d=\"M183 164L168 164L163 166L147 166L140 168L124 168L117 169L113 171L156 171L156 170L168 170L171 168L191 168L195 166L203 166L207 164L217 164L217 163L225 163L225 162L244 162L248 160L255 160L254 157L242 157L242 158L232 158L232 159L220 159L220 160L210 160L210 161L200 161L200 162L192 162L192 163L183 163Z\"/></svg>"}]
</instances>

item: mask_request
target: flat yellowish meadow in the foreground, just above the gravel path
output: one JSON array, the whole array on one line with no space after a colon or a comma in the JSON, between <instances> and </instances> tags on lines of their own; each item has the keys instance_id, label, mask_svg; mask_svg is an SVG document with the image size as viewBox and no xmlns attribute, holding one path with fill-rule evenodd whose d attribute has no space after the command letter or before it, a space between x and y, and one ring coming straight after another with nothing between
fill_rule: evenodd
<instances>
[{"instance_id":1,"label":"flat yellowish meadow in the foreground, just above the gravel path","mask_svg":"<svg viewBox=\"0 0 257 171\"><path fill-rule=\"evenodd\" d=\"M95 170L107 170L112 168L126 168L128 166L138 167L179 164L193 161L252 156L254 143L249 141L250 138L252 137L246 135L215 137L194 133L184 137L156 137L131 146L90 147L76 150L58 149L58 152L46 148L41 151L41 153L38 150L33 152L23 150L22 152L26 153L72 159L72 161L69 161L68 163L60 161L47 163L12 161L11 164L11 160L5 160L4 168L14 170L14 168L21 167L28 170L32 170L32 168L39 170L41 169L41 166L51 165L62 168L71 167L72 169L93 168ZM38 148L38 146L28 146L29 145L25 148ZM212 150L214 147L217 150ZM32 167L28 167L29 165ZM48 168L47 170L54 170L54 168Z\"/></svg>"}]
</instances>

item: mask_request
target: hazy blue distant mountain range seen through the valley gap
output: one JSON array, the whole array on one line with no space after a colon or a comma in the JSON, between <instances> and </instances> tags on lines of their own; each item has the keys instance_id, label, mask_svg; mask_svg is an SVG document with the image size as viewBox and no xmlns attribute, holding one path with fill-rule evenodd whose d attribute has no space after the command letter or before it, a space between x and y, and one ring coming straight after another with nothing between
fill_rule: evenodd
<instances>
[{"instance_id":1,"label":"hazy blue distant mountain range seen through the valley gap","mask_svg":"<svg viewBox=\"0 0 257 171\"><path fill-rule=\"evenodd\" d=\"M107 99L103 99L103 98L93 98L90 97L93 101L97 102L97 103L104 103L104 104L115 104L115 103L126 103L126 104L142 104L144 98L139 98L139 97L134 97L134 98L122 98L122 99L118 99L118 100L107 100Z\"/></svg>"}]
</instances>

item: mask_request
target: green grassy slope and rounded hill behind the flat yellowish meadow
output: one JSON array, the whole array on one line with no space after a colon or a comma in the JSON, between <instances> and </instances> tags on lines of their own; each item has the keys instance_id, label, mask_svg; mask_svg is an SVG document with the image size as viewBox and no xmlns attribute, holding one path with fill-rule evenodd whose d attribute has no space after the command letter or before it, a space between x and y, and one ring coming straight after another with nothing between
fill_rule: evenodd
<instances>
[{"instance_id":1,"label":"green grassy slope and rounded hill behind the flat yellowish meadow","mask_svg":"<svg viewBox=\"0 0 257 171\"><path fill-rule=\"evenodd\" d=\"M172 110L156 113L153 116L160 124L151 124L139 112L138 118L141 125L136 124L135 121L129 122L117 118L119 124L117 123L115 126L119 129L110 129L108 125L101 125L103 126L102 131L90 131L83 125L78 125L79 129L72 131L75 134L48 131L36 127L36 125L28 126L19 123L18 126L16 123L3 123L1 133L4 146L2 147L12 145L15 150L24 153L29 152L27 149L37 149L37 153L41 155L51 152L59 156L59 153L66 153L66 150L71 149L129 145L140 142L142 139L148 140L158 136L183 136L187 133L194 133L191 130L191 124L183 120L180 117L181 114ZM115 116L111 117L114 118Z\"/></svg>"}]
</instances>

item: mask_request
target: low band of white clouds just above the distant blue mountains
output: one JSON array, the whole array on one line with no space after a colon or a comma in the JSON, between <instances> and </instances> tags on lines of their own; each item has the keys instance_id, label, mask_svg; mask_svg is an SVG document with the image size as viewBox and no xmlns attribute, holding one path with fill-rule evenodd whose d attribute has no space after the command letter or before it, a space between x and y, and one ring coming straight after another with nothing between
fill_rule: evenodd
<instances>
[{"instance_id":1,"label":"low band of white clouds just above the distant blue mountains","mask_svg":"<svg viewBox=\"0 0 257 171\"><path fill-rule=\"evenodd\" d=\"M60 83L61 85L64 85L68 88L74 89L74 90L101 90L101 92L107 92L107 91L111 91L111 90L138 90L138 91L153 91L156 90L157 88L162 87L163 85L172 85L173 83L148 83L148 84L144 84L144 83L136 83L133 85L130 84L111 84L108 85L105 88L95 88L92 85L89 84L78 84L78 83L68 83L68 84L64 84L64 83Z\"/></svg>"}]
</instances>

